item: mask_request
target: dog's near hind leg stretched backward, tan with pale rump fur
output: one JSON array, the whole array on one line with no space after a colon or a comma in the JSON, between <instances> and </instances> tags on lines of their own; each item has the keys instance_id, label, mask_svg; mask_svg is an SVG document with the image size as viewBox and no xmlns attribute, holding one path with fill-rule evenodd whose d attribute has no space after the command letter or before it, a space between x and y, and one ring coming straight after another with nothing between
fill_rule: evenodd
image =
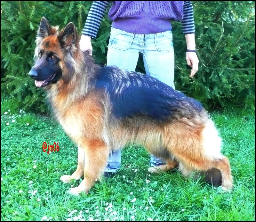
<instances>
[{"instance_id":1,"label":"dog's near hind leg stretched backward, tan with pale rump fur","mask_svg":"<svg viewBox=\"0 0 256 222\"><path fill-rule=\"evenodd\" d=\"M175 149L172 146L169 147L169 152L180 163L179 168L182 174L188 176L194 171L204 171L215 174L208 175L208 177L217 178L219 181L217 174L220 171L223 190L231 189L233 183L229 161L220 153L221 138L212 120L208 120L203 127L195 124L190 130L186 128L182 130L179 131L179 135L172 135L172 138L177 138L177 147ZM182 135L182 140L179 140L180 135ZM211 170L212 168L217 170Z\"/></svg>"}]
</instances>

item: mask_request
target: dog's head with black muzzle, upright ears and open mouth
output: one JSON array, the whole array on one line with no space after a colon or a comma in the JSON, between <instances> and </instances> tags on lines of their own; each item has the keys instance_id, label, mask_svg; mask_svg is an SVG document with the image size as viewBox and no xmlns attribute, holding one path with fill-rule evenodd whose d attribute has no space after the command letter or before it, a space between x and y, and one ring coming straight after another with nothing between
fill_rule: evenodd
<instances>
[{"instance_id":1,"label":"dog's head with black muzzle, upright ears and open mouth","mask_svg":"<svg viewBox=\"0 0 256 222\"><path fill-rule=\"evenodd\" d=\"M36 38L36 63L28 73L35 80L36 86L42 87L55 84L61 78L65 81L70 78L65 75L72 69L76 51L79 50L76 26L70 22L58 31L48 20L42 17Z\"/></svg>"}]
</instances>

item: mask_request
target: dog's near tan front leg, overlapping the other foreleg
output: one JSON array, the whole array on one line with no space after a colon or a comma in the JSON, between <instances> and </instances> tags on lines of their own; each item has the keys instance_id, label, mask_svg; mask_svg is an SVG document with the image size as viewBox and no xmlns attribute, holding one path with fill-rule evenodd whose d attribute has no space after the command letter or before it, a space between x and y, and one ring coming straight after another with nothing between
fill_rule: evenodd
<instances>
[{"instance_id":1,"label":"dog's near tan front leg, overlapping the other foreleg","mask_svg":"<svg viewBox=\"0 0 256 222\"><path fill-rule=\"evenodd\" d=\"M108 161L109 149L102 140L89 140L81 147L84 150L84 180L78 187L68 191L72 195L79 195L83 191L88 193L95 182L100 179Z\"/></svg>"}]
</instances>

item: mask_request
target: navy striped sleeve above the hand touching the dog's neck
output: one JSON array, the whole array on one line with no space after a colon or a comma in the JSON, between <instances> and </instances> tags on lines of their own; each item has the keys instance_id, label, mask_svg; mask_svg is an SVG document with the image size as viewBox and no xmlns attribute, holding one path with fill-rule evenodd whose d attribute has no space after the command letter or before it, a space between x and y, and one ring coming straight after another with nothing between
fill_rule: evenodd
<instances>
[{"instance_id":1,"label":"navy striped sleeve above the hand touching the dog's neck","mask_svg":"<svg viewBox=\"0 0 256 222\"><path fill-rule=\"evenodd\" d=\"M109 1L93 1L89 14L87 16L83 35L90 36L93 39L96 39L100 22L103 18L103 15L108 7Z\"/></svg>"}]
</instances>

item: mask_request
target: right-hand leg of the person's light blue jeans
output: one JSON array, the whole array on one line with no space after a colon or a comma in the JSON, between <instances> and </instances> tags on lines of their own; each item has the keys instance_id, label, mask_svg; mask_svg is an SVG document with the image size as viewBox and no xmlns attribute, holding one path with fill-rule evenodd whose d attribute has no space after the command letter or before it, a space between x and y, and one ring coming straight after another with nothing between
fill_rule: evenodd
<instances>
[{"instance_id":1,"label":"right-hand leg of the person's light blue jeans","mask_svg":"<svg viewBox=\"0 0 256 222\"><path fill-rule=\"evenodd\" d=\"M174 88L174 51L172 32L147 34L143 50L146 74ZM164 160L150 155L151 166L165 164Z\"/></svg>"}]
</instances>

